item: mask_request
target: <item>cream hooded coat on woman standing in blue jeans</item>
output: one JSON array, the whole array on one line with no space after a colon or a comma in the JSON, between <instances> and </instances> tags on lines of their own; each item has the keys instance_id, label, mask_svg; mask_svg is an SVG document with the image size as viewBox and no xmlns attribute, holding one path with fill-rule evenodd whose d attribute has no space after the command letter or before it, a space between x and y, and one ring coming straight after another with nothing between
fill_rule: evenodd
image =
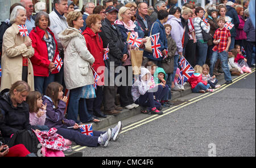
<instances>
[{"instance_id":1,"label":"cream hooded coat on woman standing in blue jeans","mask_svg":"<svg viewBox=\"0 0 256 168\"><path fill-rule=\"evenodd\" d=\"M75 89L93 84L94 77L91 64L95 59L87 49L82 33L68 27L59 34L64 48L64 80L67 89Z\"/></svg>"}]
</instances>

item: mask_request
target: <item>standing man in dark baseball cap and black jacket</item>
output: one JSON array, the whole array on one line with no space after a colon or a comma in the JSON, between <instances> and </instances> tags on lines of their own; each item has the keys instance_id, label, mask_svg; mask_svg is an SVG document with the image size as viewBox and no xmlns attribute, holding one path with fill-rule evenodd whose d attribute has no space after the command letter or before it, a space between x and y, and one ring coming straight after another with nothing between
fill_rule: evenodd
<instances>
[{"instance_id":1,"label":"standing man in dark baseball cap and black jacket","mask_svg":"<svg viewBox=\"0 0 256 168\"><path fill-rule=\"evenodd\" d=\"M115 106L115 73L113 70L118 66L122 66L122 62L128 57L128 51L125 49L125 44L122 42L121 32L119 32L118 27L114 24L114 21L117 19L117 12L117 8L113 6L106 8L106 18L102 21L101 32L99 33L104 48L109 46L109 59L105 61L109 77L108 80L105 80L103 102L104 114L110 115L116 115L122 111L122 107Z\"/></svg>"}]
</instances>

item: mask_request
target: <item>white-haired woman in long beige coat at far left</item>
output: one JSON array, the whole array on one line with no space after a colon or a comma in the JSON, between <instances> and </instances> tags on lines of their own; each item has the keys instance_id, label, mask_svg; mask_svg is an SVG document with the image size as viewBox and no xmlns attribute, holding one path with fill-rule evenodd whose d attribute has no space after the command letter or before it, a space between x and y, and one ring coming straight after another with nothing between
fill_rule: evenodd
<instances>
[{"instance_id":1,"label":"white-haired woman in long beige coat at far left","mask_svg":"<svg viewBox=\"0 0 256 168\"><path fill-rule=\"evenodd\" d=\"M11 12L12 24L3 35L1 91L10 89L11 84L18 80L26 81L34 90L34 72L30 58L34 55L30 37L21 36L18 25L26 22L26 10L16 6Z\"/></svg>"}]
</instances>

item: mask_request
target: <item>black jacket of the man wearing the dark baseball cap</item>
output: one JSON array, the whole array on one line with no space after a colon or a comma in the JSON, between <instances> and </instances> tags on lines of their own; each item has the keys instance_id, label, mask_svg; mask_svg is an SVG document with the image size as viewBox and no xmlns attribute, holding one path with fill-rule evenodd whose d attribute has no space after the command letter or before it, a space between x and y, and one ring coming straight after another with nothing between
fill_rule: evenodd
<instances>
[{"instance_id":1,"label":"black jacket of the man wearing the dark baseball cap","mask_svg":"<svg viewBox=\"0 0 256 168\"><path fill-rule=\"evenodd\" d=\"M103 47L107 48L109 44L109 59L105 61L106 66L109 67L109 62L114 62L115 67L122 65L122 58L125 44L122 41L122 34L117 25L112 25L108 19L102 21L101 32L99 35L103 41Z\"/></svg>"}]
</instances>

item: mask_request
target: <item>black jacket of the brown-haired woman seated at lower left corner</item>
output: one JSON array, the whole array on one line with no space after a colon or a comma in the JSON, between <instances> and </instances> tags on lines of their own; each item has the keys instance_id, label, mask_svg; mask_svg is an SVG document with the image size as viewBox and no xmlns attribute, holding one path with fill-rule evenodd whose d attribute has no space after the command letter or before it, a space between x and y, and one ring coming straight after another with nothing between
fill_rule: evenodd
<instances>
[{"instance_id":1,"label":"black jacket of the brown-haired woman seated at lower left corner","mask_svg":"<svg viewBox=\"0 0 256 168\"><path fill-rule=\"evenodd\" d=\"M28 104L23 102L14 107L8 89L0 93L0 109L3 114L0 120L0 131L3 137L10 137L19 130L31 130Z\"/></svg>"}]
</instances>

